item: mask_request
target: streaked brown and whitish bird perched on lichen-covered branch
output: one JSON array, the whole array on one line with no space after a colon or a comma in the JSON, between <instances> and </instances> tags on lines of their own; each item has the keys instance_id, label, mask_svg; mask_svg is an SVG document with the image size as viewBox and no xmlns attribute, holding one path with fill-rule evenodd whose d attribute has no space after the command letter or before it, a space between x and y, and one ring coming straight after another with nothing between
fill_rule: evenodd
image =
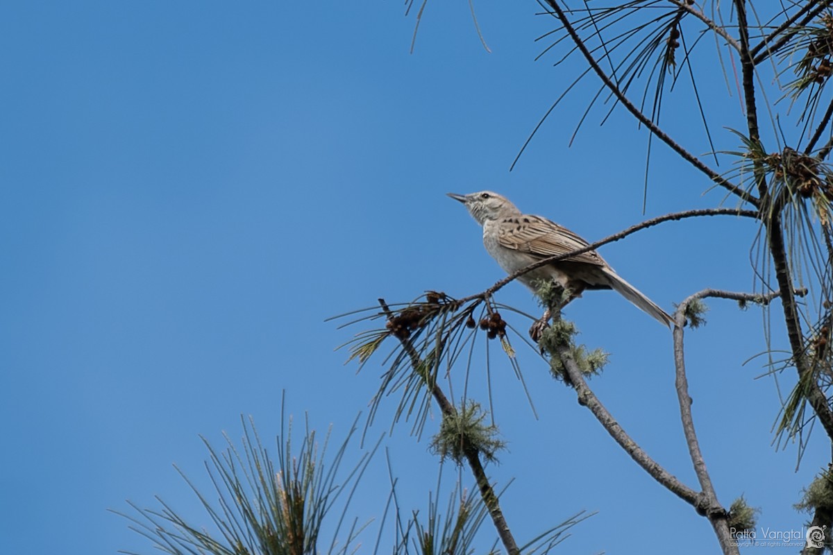
<instances>
[{"instance_id":1,"label":"streaked brown and whitish bird perched on lichen-covered branch","mask_svg":"<svg viewBox=\"0 0 833 555\"><path fill-rule=\"evenodd\" d=\"M524 214L505 196L492 191L478 191L468 195L448 193L460 201L469 214L483 227L483 245L492 258L508 274L512 274L539 260L566 255L589 245L571 230L542 216ZM670 327L674 320L646 295L622 279L596 250L571 255L551 262L518 277L522 284L537 293L541 280L553 280L567 292L560 310L571 300L581 297L585 290L612 289L630 300L637 308L651 315L662 325ZM532 326L533 339L540 338L546 328L550 310Z\"/></svg>"}]
</instances>

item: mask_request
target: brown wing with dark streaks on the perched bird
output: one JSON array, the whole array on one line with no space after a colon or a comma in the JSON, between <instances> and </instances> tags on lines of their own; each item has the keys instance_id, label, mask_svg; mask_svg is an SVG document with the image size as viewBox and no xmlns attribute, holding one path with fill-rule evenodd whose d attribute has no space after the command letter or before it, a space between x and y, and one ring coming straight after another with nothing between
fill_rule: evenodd
<instances>
[{"instance_id":1,"label":"brown wing with dark streaks on the perched bird","mask_svg":"<svg viewBox=\"0 0 833 555\"><path fill-rule=\"evenodd\" d=\"M571 230L541 216L511 216L499 222L498 241L507 249L527 252L545 258L566 255L588 245ZM606 265L595 250L570 256L565 260L593 265Z\"/></svg>"}]
</instances>

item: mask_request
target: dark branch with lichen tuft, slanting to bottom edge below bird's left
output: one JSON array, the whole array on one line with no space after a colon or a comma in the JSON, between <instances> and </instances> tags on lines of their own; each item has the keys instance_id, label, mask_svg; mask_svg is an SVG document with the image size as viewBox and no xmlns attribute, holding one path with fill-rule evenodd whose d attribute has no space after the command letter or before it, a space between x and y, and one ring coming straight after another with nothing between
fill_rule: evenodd
<instances>
[{"instance_id":1,"label":"dark branch with lichen tuft, slanting to bottom edge below bird's left","mask_svg":"<svg viewBox=\"0 0 833 555\"><path fill-rule=\"evenodd\" d=\"M379 299L379 305L382 306L382 311L385 313L387 318L391 319L393 317L393 313L387 306L384 299ZM422 364L420 356L416 352L416 348L413 346L411 339L400 338L399 340L402 343L402 348L405 349L406 353L411 358L411 365L414 372L421 372L420 369L424 367L424 364ZM456 409L454 408L454 405L448 400L446 394L442 392L440 386L436 384L436 380L427 379L426 377L426 384L431 388L431 395L433 395L436 400L436 404L440 405L443 418L456 416ZM497 494L495 493L494 488L491 487L489 478L486 476L486 471L483 469L483 464L480 462L480 452L465 436L461 437L461 442L463 442L463 452L466 453L466 460L468 461L471 473L474 475L477 482L477 488L480 490L483 503L489 510L491 521L495 525L497 535L501 538L503 547L506 548L506 553L510 553L510 555L520 555L521 550L517 547L515 538L512 536L511 530L509 529L509 524L506 523L506 518L503 516L503 511L501 510Z\"/></svg>"}]
</instances>

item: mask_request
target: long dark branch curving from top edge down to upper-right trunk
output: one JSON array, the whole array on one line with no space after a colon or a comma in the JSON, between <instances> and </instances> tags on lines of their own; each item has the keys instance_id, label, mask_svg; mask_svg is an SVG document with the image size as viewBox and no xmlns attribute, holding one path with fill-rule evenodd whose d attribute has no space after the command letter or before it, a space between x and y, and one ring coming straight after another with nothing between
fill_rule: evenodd
<instances>
[{"instance_id":1,"label":"long dark branch curving from top edge down to upper-right trunk","mask_svg":"<svg viewBox=\"0 0 833 555\"><path fill-rule=\"evenodd\" d=\"M570 35L573 42L576 43L576 47L578 47L581 54L584 55L586 61L590 66L593 68L593 71L596 72L596 75L599 76L601 81L605 84L605 86L610 89L614 96L622 103L622 106L626 107L628 111L639 120L642 125L646 126L654 135L656 135L661 141L665 142L666 145L670 146L673 151L676 151L683 160L686 160L691 163L692 166L695 166L698 170L702 171L706 174L706 176L714 181L717 185L724 187L726 190L731 191L732 194L740 197L742 200L749 202L752 206L759 206L759 201L756 199L755 196L752 196L748 191L744 191L741 187L734 185L730 181L726 180L725 177L721 176L716 171L712 170L711 167L706 166L706 164L700 160L697 156L691 154L691 152L686 151L685 148L677 144L676 141L671 139L671 136L668 136L665 131L662 131L659 126L651 121L642 111L636 107L628 98L625 96L625 93L621 91L619 87L616 86L616 83L611 81L611 78L608 77L606 72L601 69L598 62L596 62L596 58L593 57L591 52L587 50L587 47L581 37L578 36L576 29L574 29L570 23L570 20L567 19L566 14L561 10L561 7L558 5L557 0L542 0L546 2L546 4L551 7L552 12L555 17L561 22L561 25L564 26L566 32Z\"/></svg>"}]
</instances>

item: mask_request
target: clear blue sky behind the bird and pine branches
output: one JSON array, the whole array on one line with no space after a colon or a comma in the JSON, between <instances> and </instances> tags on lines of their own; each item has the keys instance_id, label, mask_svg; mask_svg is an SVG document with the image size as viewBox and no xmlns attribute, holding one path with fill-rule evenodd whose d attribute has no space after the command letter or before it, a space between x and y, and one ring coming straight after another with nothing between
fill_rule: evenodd
<instances>
[{"instance_id":1,"label":"clear blue sky behind the bird and pine branches","mask_svg":"<svg viewBox=\"0 0 833 555\"><path fill-rule=\"evenodd\" d=\"M466 2L429 2L413 55L416 20L402 2L0 8L0 552L150 553L107 509L154 506L159 495L200 523L172 464L206 484L198 435L237 438L241 414L262 436L277 434L283 390L287 412L347 434L382 358L356 374L333 349L361 329L325 319L378 297L467 295L502 276L446 192L501 191L589 240L641 221L645 130L624 114L599 126L596 110L568 147L597 82L566 98L509 171L579 66L534 60L546 45L533 39L552 26L535 2L476 9L491 53ZM703 94L725 107L718 144L735 148L722 126L742 126L736 98L722 76ZM664 123L700 154L698 117L669 111ZM721 203L667 149L653 154L646 216ZM671 310L706 287L751 290L755 235L750 221L684 221L602 252ZM521 285L499 300L537 310ZM582 341L611 352L592 381L602 401L694 486L671 335L611 292L587 294L567 316ZM760 359L743 364L766 349L761 312L712 302L708 320L687 335L688 367L719 498L728 506L745 494L761 526L800 528L791 504L829 460L821 433L794 472L795 446L770 445L773 380L756 379ZM599 513L561 550L716 549L706 520L523 352L534 419L499 354L491 387L509 445L490 471L500 484L515 478L504 508L521 541L587 509ZM482 367L470 380L482 394ZM371 434L387 431L393 405ZM436 458L408 429L384 445L410 509L425 506ZM387 495L377 463L352 507L362 518L378 517Z\"/></svg>"}]
</instances>

